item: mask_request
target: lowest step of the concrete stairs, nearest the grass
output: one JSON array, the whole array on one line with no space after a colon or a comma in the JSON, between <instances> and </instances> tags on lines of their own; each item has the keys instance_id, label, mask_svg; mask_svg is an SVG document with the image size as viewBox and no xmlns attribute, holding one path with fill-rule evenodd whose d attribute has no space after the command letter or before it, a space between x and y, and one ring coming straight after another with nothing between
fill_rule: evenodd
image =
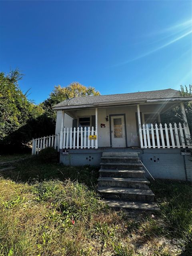
<instances>
[{"instance_id":1,"label":"lowest step of the concrete stairs, nearest the grass","mask_svg":"<svg viewBox=\"0 0 192 256\"><path fill-rule=\"evenodd\" d=\"M135 210L148 210L148 211L159 211L157 204L155 202L131 202L131 201L118 201L118 200L104 200L108 206L112 208L122 208L122 209L135 209Z\"/></svg>"}]
</instances>

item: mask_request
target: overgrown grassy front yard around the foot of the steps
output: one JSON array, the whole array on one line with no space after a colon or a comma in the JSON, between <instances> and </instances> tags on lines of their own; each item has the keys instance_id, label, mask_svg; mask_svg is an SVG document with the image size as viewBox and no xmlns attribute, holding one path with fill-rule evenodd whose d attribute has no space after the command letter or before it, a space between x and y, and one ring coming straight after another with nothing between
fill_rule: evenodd
<instances>
[{"instance_id":1,"label":"overgrown grassy front yard around the foot of the steps","mask_svg":"<svg viewBox=\"0 0 192 256\"><path fill-rule=\"evenodd\" d=\"M100 200L96 168L16 166L0 172L0 256L191 255L190 183L156 180L161 211L125 213Z\"/></svg>"}]
</instances>

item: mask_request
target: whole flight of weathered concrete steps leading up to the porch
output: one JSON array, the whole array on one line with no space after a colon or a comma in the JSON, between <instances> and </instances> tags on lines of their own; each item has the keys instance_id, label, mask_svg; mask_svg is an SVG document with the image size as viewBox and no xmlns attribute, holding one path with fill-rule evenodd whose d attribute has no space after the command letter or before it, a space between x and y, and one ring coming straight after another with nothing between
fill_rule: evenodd
<instances>
[{"instance_id":1,"label":"whole flight of weathered concrete steps leading up to the porch","mask_svg":"<svg viewBox=\"0 0 192 256\"><path fill-rule=\"evenodd\" d=\"M138 153L103 152L98 192L116 209L159 210Z\"/></svg>"}]
</instances>

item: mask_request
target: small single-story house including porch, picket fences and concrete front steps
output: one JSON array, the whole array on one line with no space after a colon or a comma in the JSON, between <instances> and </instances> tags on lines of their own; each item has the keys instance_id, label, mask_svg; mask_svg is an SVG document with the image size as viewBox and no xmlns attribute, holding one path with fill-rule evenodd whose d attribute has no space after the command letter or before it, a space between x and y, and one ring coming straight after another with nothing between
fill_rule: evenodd
<instances>
[{"instance_id":1,"label":"small single-story house including porch, picket fences and concrete front steps","mask_svg":"<svg viewBox=\"0 0 192 256\"><path fill-rule=\"evenodd\" d=\"M153 178L192 180L191 136L184 102L173 89L64 100L57 111L56 134L33 140L32 154L47 146L66 165L100 166L98 192L115 208L158 210ZM180 106L182 120L165 114Z\"/></svg>"}]
</instances>

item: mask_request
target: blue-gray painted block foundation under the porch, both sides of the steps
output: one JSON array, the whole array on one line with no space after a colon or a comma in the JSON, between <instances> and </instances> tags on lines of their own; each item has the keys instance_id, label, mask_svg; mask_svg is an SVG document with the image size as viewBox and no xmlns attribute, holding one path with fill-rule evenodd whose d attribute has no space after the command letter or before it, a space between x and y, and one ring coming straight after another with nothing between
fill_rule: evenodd
<instances>
[{"instance_id":1,"label":"blue-gray painted block foundation under the porch, both sides of the steps","mask_svg":"<svg viewBox=\"0 0 192 256\"><path fill-rule=\"evenodd\" d=\"M65 165L82 166L90 164L99 166L102 152L139 152L139 157L154 178L192 180L192 158L181 156L179 149L126 149L105 148L98 150L69 150L69 155L60 154L60 162ZM186 162L186 172L184 167ZM154 161L155 160L155 161ZM145 168L143 168L145 170ZM146 171L146 170L145 170ZM146 171L146 177L150 177Z\"/></svg>"}]
</instances>

